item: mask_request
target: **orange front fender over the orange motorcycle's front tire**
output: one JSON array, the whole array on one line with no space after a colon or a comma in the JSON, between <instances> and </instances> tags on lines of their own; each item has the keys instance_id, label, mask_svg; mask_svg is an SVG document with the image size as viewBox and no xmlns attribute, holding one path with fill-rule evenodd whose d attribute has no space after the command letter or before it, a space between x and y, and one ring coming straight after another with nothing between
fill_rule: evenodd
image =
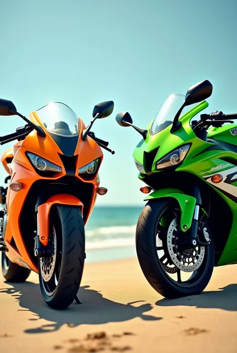
<instances>
[{"instance_id":1,"label":"orange front fender over the orange motorcycle's front tire","mask_svg":"<svg viewBox=\"0 0 237 353\"><path fill-rule=\"evenodd\" d=\"M49 235L49 212L54 204L77 206L83 211L82 202L75 196L69 194L58 194L50 197L46 202L37 207L37 227L39 241L44 246L48 243Z\"/></svg>"}]
</instances>

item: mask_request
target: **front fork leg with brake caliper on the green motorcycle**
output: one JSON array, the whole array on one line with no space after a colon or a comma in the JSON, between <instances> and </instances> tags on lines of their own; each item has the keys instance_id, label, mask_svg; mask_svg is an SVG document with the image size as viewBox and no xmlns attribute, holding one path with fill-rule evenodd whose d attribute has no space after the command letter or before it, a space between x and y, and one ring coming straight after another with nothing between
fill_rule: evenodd
<instances>
[{"instance_id":1,"label":"front fork leg with brake caliper on the green motorcycle","mask_svg":"<svg viewBox=\"0 0 237 353\"><path fill-rule=\"evenodd\" d=\"M207 246L210 244L207 229L199 226L199 221L198 221L199 211L201 208L201 194L200 194L200 188L198 185L194 185L192 196L195 197L196 199L196 205L193 213L191 227L189 229L189 243L191 246L196 246L196 245ZM200 234L199 235L197 234L198 231L201 232L201 236Z\"/></svg>"}]
</instances>

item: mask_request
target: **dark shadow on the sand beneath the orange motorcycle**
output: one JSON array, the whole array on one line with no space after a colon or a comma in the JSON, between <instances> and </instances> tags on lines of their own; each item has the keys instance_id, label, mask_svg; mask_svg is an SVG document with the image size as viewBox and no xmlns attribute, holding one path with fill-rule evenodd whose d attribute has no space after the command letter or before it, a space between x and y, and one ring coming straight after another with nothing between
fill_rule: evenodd
<instances>
[{"instance_id":1,"label":"dark shadow on the sand beneath the orange motorcycle","mask_svg":"<svg viewBox=\"0 0 237 353\"><path fill-rule=\"evenodd\" d=\"M24 330L25 333L52 332L58 330L64 324L75 327L80 324L122 322L135 317L140 317L143 320L162 319L162 317L144 314L152 309L151 304L132 305L144 300L121 304L104 298L99 291L89 289L89 285L79 288L78 297L82 304L73 302L66 310L49 308L43 302L39 285L36 283L27 281L25 283L10 283L9 285L11 285L9 288L0 289L0 293L13 296L22 308L18 311L30 311L34 314L34 318L29 320L35 321L37 327L26 329ZM40 319L48 320L50 323L37 325Z\"/></svg>"}]
</instances>

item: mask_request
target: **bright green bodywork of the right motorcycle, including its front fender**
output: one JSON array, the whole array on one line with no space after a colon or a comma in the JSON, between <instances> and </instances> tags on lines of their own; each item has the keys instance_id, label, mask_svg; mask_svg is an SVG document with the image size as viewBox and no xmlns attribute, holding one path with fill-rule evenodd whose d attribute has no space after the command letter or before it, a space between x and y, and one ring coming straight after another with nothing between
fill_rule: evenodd
<instances>
[{"instance_id":1,"label":"bright green bodywork of the right motorcycle, including its front fender","mask_svg":"<svg viewBox=\"0 0 237 353\"><path fill-rule=\"evenodd\" d=\"M218 146L218 141L227 142L236 146L237 136L231 135L230 130L236 128L237 124L226 124L223 127L211 128L207 130L207 138L215 139L216 141L212 140L212 142L208 142L199 139L190 127L190 120L196 114L200 113L203 109L207 107L208 103L206 101L203 101L200 104L196 105L193 109L189 110L186 114L182 115L179 118L179 121L181 122L182 126L180 127L180 129L178 129L175 133L172 134L170 133L170 125L162 131L151 135L149 130L152 124L151 122L147 127L148 132L146 139L141 140L138 143L133 152L133 157L138 163L142 164L146 173L148 173L149 175L155 175L156 173L163 173L164 170L167 172L169 169L165 168L156 170L155 165L157 161L159 161L164 156L166 156L167 154L182 145L191 145L183 162L176 167L175 174L176 172L187 172L195 175L197 178L199 178L200 183L205 183L206 185L208 185L208 187L213 189L215 193L217 193L224 200L226 207L228 207L232 213L232 226L230 232L228 233L227 241L224 245L219 260L217 261L217 263L215 263L215 266L220 266L237 262L237 198L235 203L223 192L221 192L221 190L219 191L213 185L211 185L210 182L207 182L205 179L203 179L203 176L211 174L211 169L214 170L214 168L217 168L217 170L221 169L221 172L234 168L237 165L237 159L236 153L228 150L223 151L221 149L218 150L218 148L206 152L204 152L204 150L214 145ZM151 170L147 170L146 157L144 152L149 153L157 148L158 151L153 159ZM223 166L219 168L220 165ZM212 172L212 174L214 174L214 172ZM142 180L144 179L144 177L144 174L139 173L139 179ZM180 185L180 188L181 187L182 185ZM231 187L237 187L237 179L235 182L231 182ZM181 211L181 229L184 231L184 229L182 228L184 224L187 226L187 228L189 228L195 206L195 199L191 196L184 195L181 190L174 191L172 189L162 189L162 183L160 184L160 188L161 189L152 192L152 194L146 197L145 200L161 197L175 198L179 203ZM186 199L188 200L188 203L186 203ZM216 234L215 236L221 237L222 235Z\"/></svg>"}]
</instances>

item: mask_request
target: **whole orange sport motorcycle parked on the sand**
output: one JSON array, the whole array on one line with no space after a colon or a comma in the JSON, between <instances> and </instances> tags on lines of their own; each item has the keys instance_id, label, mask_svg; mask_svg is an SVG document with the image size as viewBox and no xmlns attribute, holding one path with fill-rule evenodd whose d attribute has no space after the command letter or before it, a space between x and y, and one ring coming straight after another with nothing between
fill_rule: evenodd
<instances>
[{"instance_id":1,"label":"whole orange sport motorcycle parked on the sand","mask_svg":"<svg viewBox=\"0 0 237 353\"><path fill-rule=\"evenodd\" d=\"M39 275L44 301L52 308L68 307L77 298L84 258L86 224L99 187L100 147L108 143L90 131L96 119L113 111L113 102L93 109L83 121L63 103L50 103L30 113L30 120L10 101L0 99L0 115L18 115L25 122L0 137L13 145L8 165L10 181L5 208L0 210L2 274L8 282L24 282L30 271ZM10 164L9 164L10 161Z\"/></svg>"}]
</instances>

